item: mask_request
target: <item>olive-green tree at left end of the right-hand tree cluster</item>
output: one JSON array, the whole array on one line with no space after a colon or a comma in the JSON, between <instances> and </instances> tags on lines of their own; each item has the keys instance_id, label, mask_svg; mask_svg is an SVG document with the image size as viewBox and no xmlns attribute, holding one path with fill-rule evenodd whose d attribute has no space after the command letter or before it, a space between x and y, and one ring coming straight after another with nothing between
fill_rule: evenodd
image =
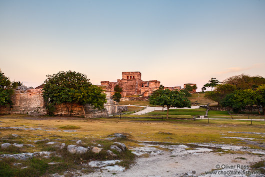
<instances>
[{"instance_id":1,"label":"olive-green tree at left end of the right-hand tree cluster","mask_svg":"<svg viewBox=\"0 0 265 177\"><path fill-rule=\"evenodd\" d=\"M216 101L219 105L220 101L229 93L236 90L234 85L230 84L219 84L216 85L213 91L208 91L205 93L205 97L213 101Z\"/></svg>"}]
</instances>

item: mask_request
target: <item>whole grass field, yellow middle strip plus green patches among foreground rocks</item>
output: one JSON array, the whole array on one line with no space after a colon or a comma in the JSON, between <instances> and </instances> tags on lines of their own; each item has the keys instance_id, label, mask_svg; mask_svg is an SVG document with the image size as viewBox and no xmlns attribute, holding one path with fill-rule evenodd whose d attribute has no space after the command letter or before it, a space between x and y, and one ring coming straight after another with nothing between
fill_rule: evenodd
<instances>
[{"instance_id":1,"label":"whole grass field, yellow middle strip plus green patches among foreground rocks","mask_svg":"<svg viewBox=\"0 0 265 177\"><path fill-rule=\"evenodd\" d=\"M180 112L180 111L179 111ZM195 111L193 111L195 112ZM198 112L198 111L196 111ZM175 116L175 115L174 115ZM182 115L183 116L183 115ZM185 116L185 115L184 115ZM50 176L52 173L62 174L63 171L80 170L83 173L93 171L86 166L83 168L80 163L93 160L108 160L106 153L87 152L84 155L72 155L67 153L66 147L58 150L50 145L49 141L64 142L67 145L75 144L77 140L82 141L82 146L92 146L102 144L106 150L114 142L123 142L127 147L139 146L138 141L159 141L171 144L175 143L223 143L251 148L264 149L256 144L245 143L236 138L222 138L225 136L240 136L246 138L256 138L257 144L265 143L265 138L258 134L231 133L233 132L262 132L265 133L265 121L255 121L250 125L249 121L236 120L161 120L161 119L118 119L118 118L65 118L65 117L15 117L15 115L0 116L1 127L23 127L38 128L27 130L0 129L0 143L24 143L33 144L34 147L0 149L0 154L21 153L35 151L56 151L60 156L49 158L33 157L29 160L15 160L4 158L0 163L0 176ZM62 130L72 130L70 132ZM106 140L108 135L113 133L123 133L128 136L125 139ZM13 134L17 136L13 136ZM34 143L34 140L48 140ZM225 152L225 153L229 153ZM234 152L232 152L234 153ZM244 153L244 152L242 152ZM133 162L133 155L129 150L118 154L116 157L122 159L120 165L128 166ZM116 159L114 158L114 159ZM56 164L49 164L56 162ZM14 166L14 163L20 165ZM21 168L20 166L28 166ZM66 176L70 174L66 173Z\"/></svg>"}]
</instances>

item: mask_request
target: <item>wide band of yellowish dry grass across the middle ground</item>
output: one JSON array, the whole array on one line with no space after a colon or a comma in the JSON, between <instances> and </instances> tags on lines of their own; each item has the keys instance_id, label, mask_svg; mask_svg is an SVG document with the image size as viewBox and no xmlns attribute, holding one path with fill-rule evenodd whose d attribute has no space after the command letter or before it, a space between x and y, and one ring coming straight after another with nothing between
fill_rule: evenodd
<instances>
[{"instance_id":1,"label":"wide band of yellowish dry grass across the middle ground","mask_svg":"<svg viewBox=\"0 0 265 177\"><path fill-rule=\"evenodd\" d=\"M29 120L19 119L1 119L1 126L27 126L49 129L50 131L41 130L3 130L0 136L18 134L27 136L30 140L41 139L45 137L57 137L61 139L83 139L83 138L105 138L107 135L116 132L125 132L131 134L131 139L141 141L169 141L172 143L189 143L189 142L214 142L214 143L234 143L241 144L242 141L237 139L220 138L221 133L229 136L243 136L256 138L255 134L229 134L228 131L250 131L265 132L265 122L249 121L232 121L232 120L168 120L158 121L150 119L81 119L81 120ZM58 131L59 127L65 125L79 126L76 132ZM158 132L169 132L172 135L158 134ZM261 142L265 143L264 137L259 137ZM127 145L131 142L124 142Z\"/></svg>"}]
</instances>

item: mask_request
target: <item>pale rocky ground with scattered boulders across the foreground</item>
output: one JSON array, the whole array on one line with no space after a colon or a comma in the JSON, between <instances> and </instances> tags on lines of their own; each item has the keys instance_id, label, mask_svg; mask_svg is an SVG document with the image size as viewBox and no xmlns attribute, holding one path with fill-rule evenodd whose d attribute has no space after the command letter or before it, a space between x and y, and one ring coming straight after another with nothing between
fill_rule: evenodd
<instances>
[{"instance_id":1,"label":"pale rocky ground with scattered boulders across the foreground","mask_svg":"<svg viewBox=\"0 0 265 177\"><path fill-rule=\"evenodd\" d=\"M58 130L37 127L0 127L2 131L17 131L33 133L37 131L43 132L68 132L74 133L76 130ZM21 169L28 168L28 166L21 164L21 160L28 160L33 157L51 158L54 156L60 158L61 155L67 154L85 154L92 153L92 158L78 161L78 169L71 169L59 173L53 173L44 176L66 177L66 176L262 176L265 171L265 150L264 144L257 141L263 139L265 133L257 132L233 132L229 131L227 134L220 134L221 138L238 139L245 144L253 145L260 148L251 148L251 146L239 146L234 144L224 143L169 143L158 141L136 141L133 146L125 146L119 140L126 139L127 135L114 133L103 139L108 143L102 145L93 142L87 144L78 139L60 139L60 138L42 138L42 135L34 134L36 140L30 140L27 137L22 137L17 134L8 134L2 136L0 141L0 148L18 150L20 149L34 149L35 147L46 146L47 151L22 152L22 153L6 153L0 154L0 163L5 159L20 160L19 162L12 162L13 166L19 166ZM254 134L254 138L241 137L241 134ZM39 138L38 138L39 137ZM52 136L50 136L52 137ZM69 136L70 138L71 136ZM18 141L17 139L20 140ZM23 140L26 142L22 143ZM100 139L102 141L102 139ZM126 139L126 141L132 141ZM19 143L20 142L20 143ZM103 141L102 141L103 143ZM89 145L89 146L88 146ZM41 148L40 148L41 149ZM61 150L60 150L61 149ZM63 149L67 152L64 152ZM129 152L128 149L135 154L135 162L129 167L122 165L122 158L117 158L119 154ZM100 151L104 151L107 160L96 159L96 155ZM131 154L131 152L129 152ZM116 155L117 154L117 155ZM80 156L81 157L81 156ZM121 157L121 156L118 156ZM79 158L79 157L78 157ZM80 159L80 158L79 158ZM262 161L263 164L256 168L251 165ZM62 164L60 160L49 161L48 165ZM1 167L1 165L0 165ZM1 168L0 168L1 169ZM90 172L83 170L89 169ZM263 172L262 172L263 171ZM207 174L212 172L213 174ZM1 171L0 171L1 173ZM216 173L216 174L214 174ZM0 175L1 176L1 175ZM37 175L36 175L37 176Z\"/></svg>"}]
</instances>

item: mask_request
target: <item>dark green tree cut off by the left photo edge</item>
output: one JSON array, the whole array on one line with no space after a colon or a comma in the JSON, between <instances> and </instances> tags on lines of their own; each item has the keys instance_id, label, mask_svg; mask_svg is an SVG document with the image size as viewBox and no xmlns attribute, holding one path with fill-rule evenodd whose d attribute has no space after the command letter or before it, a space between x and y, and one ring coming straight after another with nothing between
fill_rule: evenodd
<instances>
[{"instance_id":1,"label":"dark green tree cut off by the left photo edge","mask_svg":"<svg viewBox=\"0 0 265 177\"><path fill-rule=\"evenodd\" d=\"M0 70L0 105L11 106L11 95L13 90L11 88L11 82L9 78L4 76L4 73Z\"/></svg>"}]
</instances>

